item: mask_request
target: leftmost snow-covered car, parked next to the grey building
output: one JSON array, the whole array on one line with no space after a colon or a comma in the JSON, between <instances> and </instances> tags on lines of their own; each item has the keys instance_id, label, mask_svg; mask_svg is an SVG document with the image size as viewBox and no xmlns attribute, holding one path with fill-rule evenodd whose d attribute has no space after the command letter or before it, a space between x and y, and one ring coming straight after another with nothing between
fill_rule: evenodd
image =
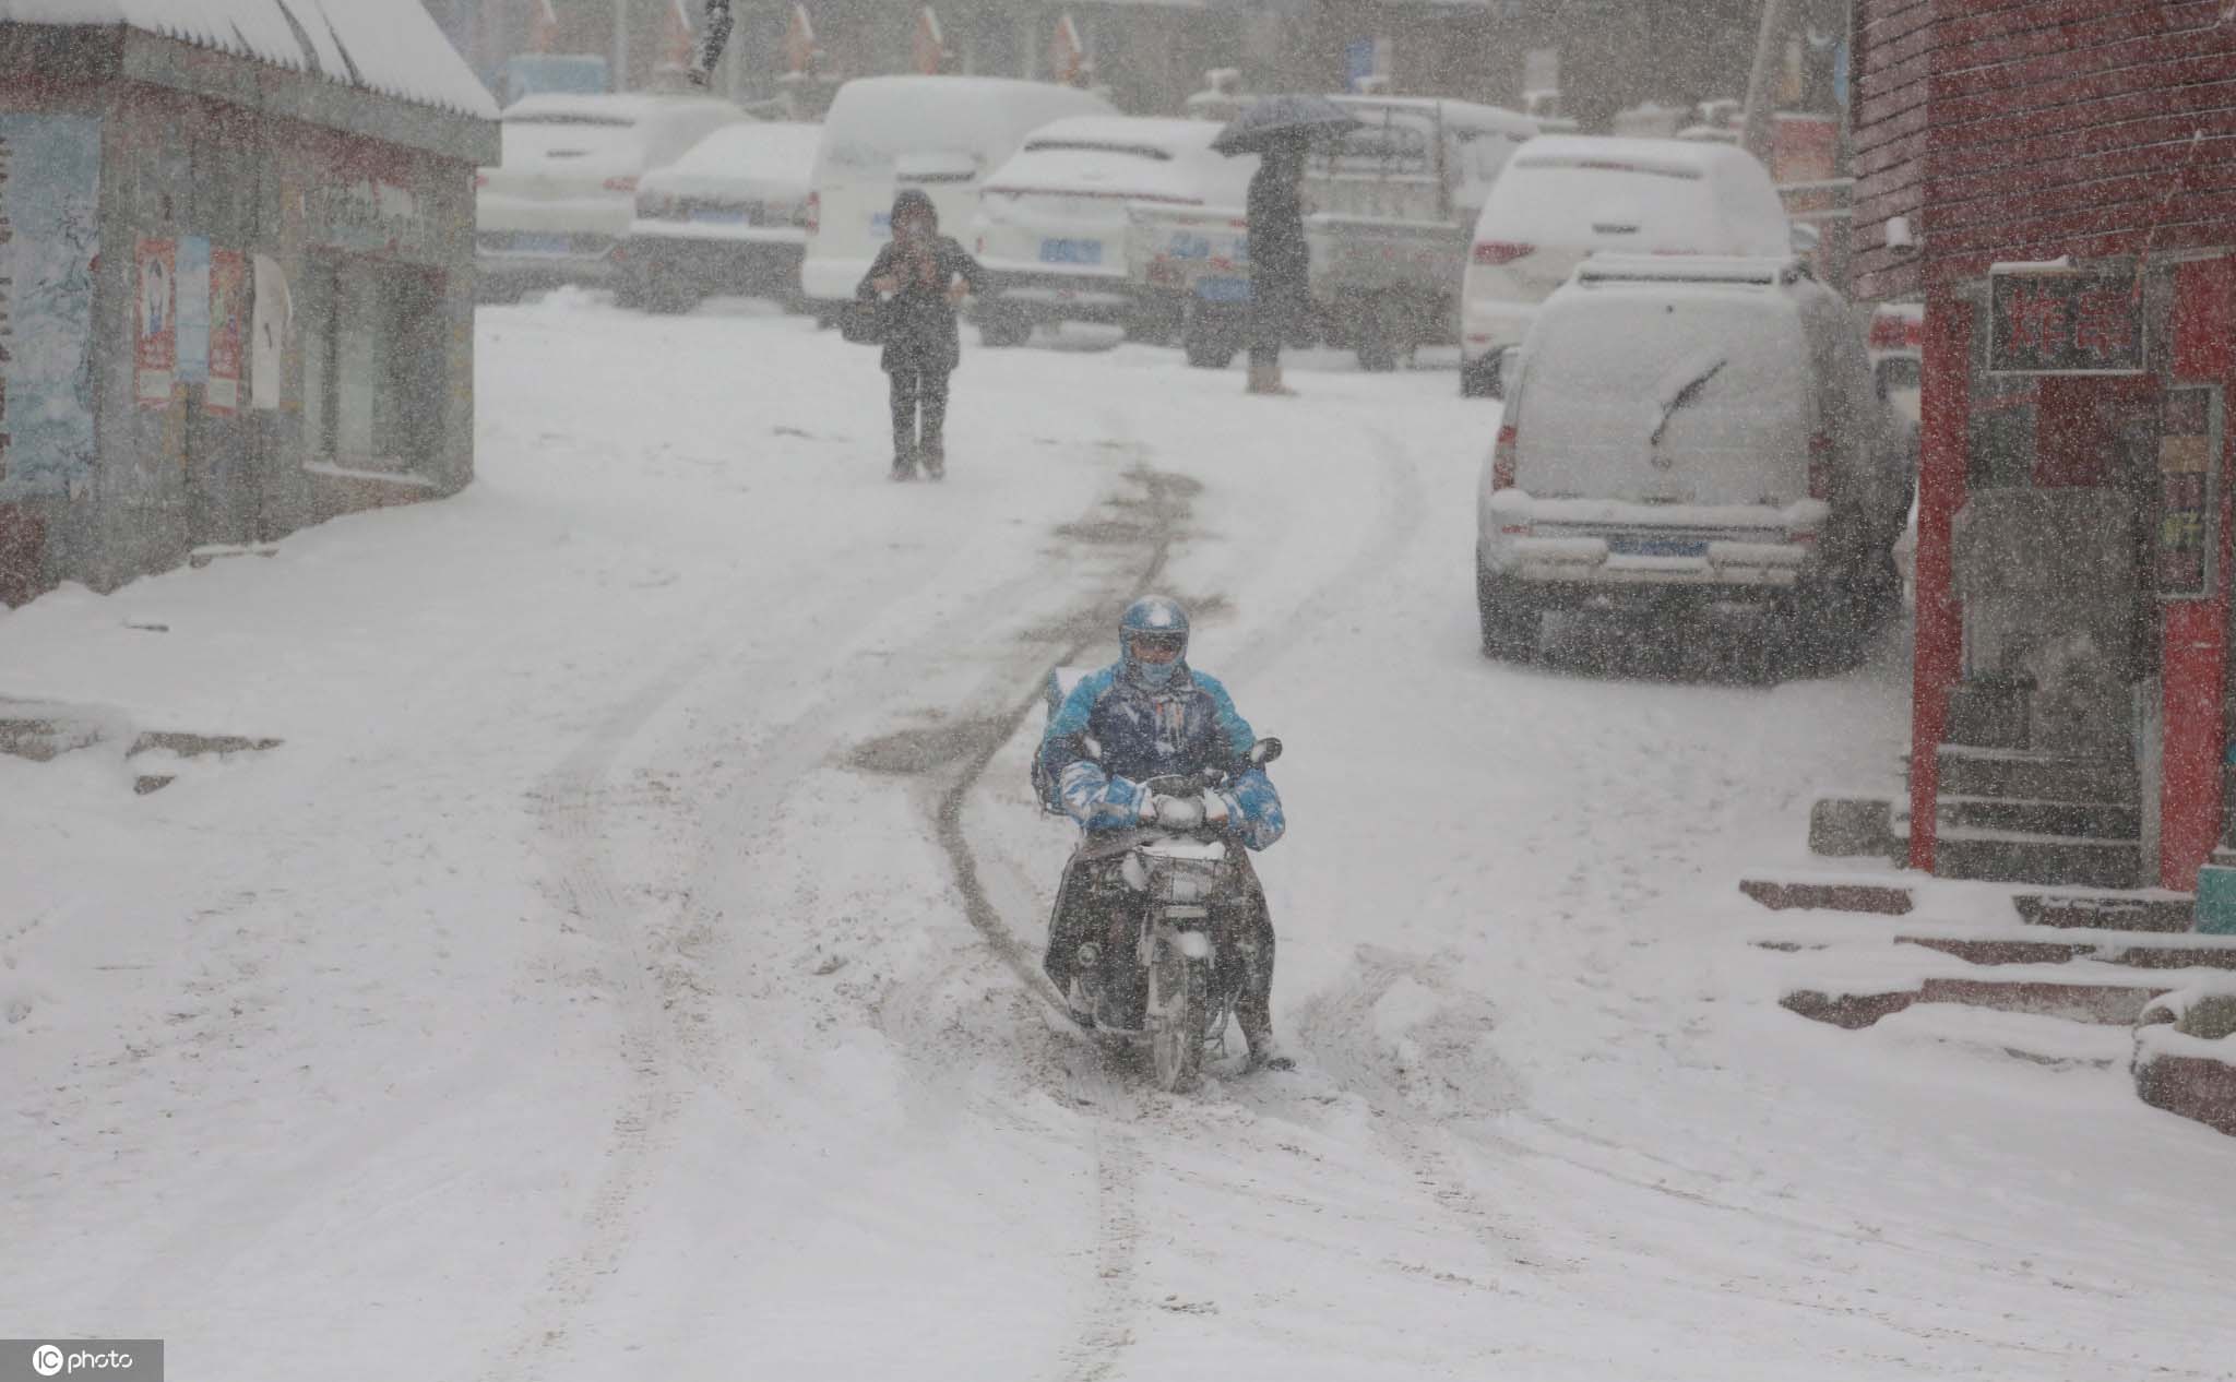
<instances>
[{"instance_id":1,"label":"leftmost snow-covered car, parked next to the grey building","mask_svg":"<svg viewBox=\"0 0 2236 1382\"><path fill-rule=\"evenodd\" d=\"M601 284L635 217L637 181L749 119L713 96L528 96L501 116L503 154L474 199L483 300Z\"/></svg>"}]
</instances>

